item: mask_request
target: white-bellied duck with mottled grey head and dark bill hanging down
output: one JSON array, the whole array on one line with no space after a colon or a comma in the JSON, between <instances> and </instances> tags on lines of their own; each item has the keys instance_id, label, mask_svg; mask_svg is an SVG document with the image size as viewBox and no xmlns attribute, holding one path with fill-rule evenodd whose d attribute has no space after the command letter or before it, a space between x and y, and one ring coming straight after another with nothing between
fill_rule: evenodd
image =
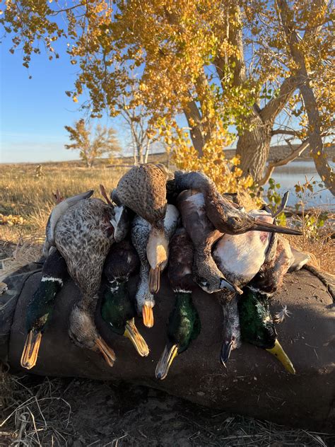
<instances>
[{"instance_id":1,"label":"white-bellied duck with mottled grey head and dark bill hanging down","mask_svg":"<svg viewBox=\"0 0 335 447\"><path fill-rule=\"evenodd\" d=\"M267 211L253 210L249 214L261 221L270 223L274 221L274 217ZM213 259L224 276L242 288L264 265L270 238L271 233L260 231L247 231L236 236L225 234L216 243ZM221 362L226 366L233 349L238 349L241 345L240 318L237 308L237 301L240 298L229 291L220 291L216 296L223 310Z\"/></svg>"}]
</instances>

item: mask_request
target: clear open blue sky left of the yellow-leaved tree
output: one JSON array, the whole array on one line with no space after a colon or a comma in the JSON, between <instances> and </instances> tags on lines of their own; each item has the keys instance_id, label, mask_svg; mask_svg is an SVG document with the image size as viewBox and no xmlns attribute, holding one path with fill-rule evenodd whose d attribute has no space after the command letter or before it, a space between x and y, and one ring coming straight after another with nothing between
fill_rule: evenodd
<instances>
[{"instance_id":1,"label":"clear open blue sky left of the yellow-leaved tree","mask_svg":"<svg viewBox=\"0 0 335 447\"><path fill-rule=\"evenodd\" d=\"M76 79L76 67L67 54L49 61L45 54L35 56L27 70L22 53L8 52L10 41L0 44L0 163L74 160L77 151L64 149L69 140L64 125L71 125L82 112L78 103L66 96ZM32 79L29 79L32 76ZM79 101L85 97L79 98ZM117 129L108 117L102 125ZM119 127L119 139L124 130Z\"/></svg>"}]
</instances>

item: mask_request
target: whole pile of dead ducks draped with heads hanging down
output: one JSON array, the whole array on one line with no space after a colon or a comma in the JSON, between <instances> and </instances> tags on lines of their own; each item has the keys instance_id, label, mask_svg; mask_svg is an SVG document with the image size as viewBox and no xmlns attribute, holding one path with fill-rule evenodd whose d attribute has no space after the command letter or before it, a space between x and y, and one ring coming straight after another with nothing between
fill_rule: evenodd
<instances>
[{"instance_id":1,"label":"whole pile of dead ducks draped with heads hanging down","mask_svg":"<svg viewBox=\"0 0 335 447\"><path fill-rule=\"evenodd\" d=\"M269 303L288 269L298 269L308 260L301 254L297 259L288 241L278 235L300 235L299 231L276 225L276 215L267 207L245 212L199 172L171 173L163 165L148 163L123 175L110 197L104 187L100 189L105 201L91 197L93 191L68 199L59 192L55 195L42 279L28 304L24 368L36 364L42 335L68 274L81 291L69 315L72 342L100 352L113 366L114 351L95 326L102 296L101 315L110 330L129 338L140 356L148 356L135 318L141 315L146 327L153 326L155 294L167 269L175 306L156 378L167 376L175 357L201 331L192 301L199 287L223 310L223 365L245 341L271 352L295 373L278 342ZM287 195L281 210L286 199ZM129 277L138 273L137 291L131 296Z\"/></svg>"}]
</instances>

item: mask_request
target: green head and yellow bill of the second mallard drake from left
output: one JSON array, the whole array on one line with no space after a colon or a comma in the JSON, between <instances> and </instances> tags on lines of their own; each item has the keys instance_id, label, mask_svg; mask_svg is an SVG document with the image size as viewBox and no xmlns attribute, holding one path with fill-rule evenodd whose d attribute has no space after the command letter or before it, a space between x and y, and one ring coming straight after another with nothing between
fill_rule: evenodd
<instances>
[{"instance_id":1,"label":"green head and yellow bill of the second mallard drake from left","mask_svg":"<svg viewBox=\"0 0 335 447\"><path fill-rule=\"evenodd\" d=\"M134 323L136 309L129 298L126 279L110 281L102 300L101 315L113 332L131 340L140 356L149 354L148 345Z\"/></svg>"}]
</instances>

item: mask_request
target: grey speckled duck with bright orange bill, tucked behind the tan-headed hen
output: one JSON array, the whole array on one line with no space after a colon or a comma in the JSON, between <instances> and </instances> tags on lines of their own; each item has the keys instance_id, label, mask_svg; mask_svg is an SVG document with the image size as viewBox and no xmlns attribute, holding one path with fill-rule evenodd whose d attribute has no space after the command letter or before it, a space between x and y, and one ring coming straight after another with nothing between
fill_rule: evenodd
<instances>
[{"instance_id":1,"label":"grey speckled duck with bright orange bill, tucked behind the tan-headed hen","mask_svg":"<svg viewBox=\"0 0 335 447\"><path fill-rule=\"evenodd\" d=\"M166 240L170 240L179 219L179 212L173 205L167 205L167 211L164 219L164 231ZM136 248L141 262L139 286L136 291L136 303L139 313L143 315L143 324L146 327L153 327L153 306L155 299L149 287L150 265L147 258L146 246L151 231L151 224L141 216L136 216L131 226L131 241ZM163 272L167 260L160 265L160 271Z\"/></svg>"}]
</instances>

